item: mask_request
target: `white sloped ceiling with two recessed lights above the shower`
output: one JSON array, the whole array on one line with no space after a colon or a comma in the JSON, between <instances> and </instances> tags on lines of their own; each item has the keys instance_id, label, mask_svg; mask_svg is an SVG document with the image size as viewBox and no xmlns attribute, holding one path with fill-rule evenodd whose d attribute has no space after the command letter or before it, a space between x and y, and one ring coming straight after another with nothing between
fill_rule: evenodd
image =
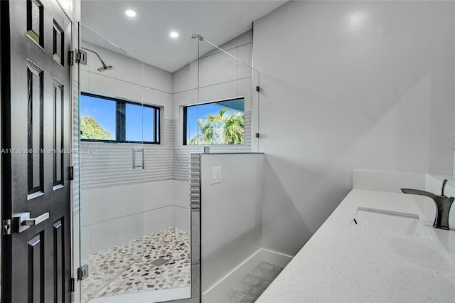
<instances>
[{"instance_id":1,"label":"white sloped ceiling with two recessed lights above the shower","mask_svg":"<svg viewBox=\"0 0 455 303\"><path fill-rule=\"evenodd\" d=\"M286 2L82 0L81 19L137 60L173 73L189 62L191 34L220 46ZM137 16L126 16L127 9L136 11ZM171 31L180 36L170 38ZM82 40L112 50L109 43L88 30L81 35ZM201 43L200 55L211 49L208 43Z\"/></svg>"}]
</instances>

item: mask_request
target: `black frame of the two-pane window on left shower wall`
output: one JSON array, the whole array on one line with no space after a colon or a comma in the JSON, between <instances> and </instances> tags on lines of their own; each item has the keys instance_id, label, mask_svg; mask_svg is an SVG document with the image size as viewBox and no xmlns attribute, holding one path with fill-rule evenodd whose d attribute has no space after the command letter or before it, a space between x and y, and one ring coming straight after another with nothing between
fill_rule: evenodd
<instances>
[{"instance_id":1,"label":"black frame of the two-pane window on left shower wall","mask_svg":"<svg viewBox=\"0 0 455 303\"><path fill-rule=\"evenodd\" d=\"M80 95L88 97L95 97L98 99L105 99L115 102L115 139L84 139L80 138L82 142L105 142L105 143L142 143L142 144L161 144L161 106L148 105L144 103L134 102L130 100L124 100L119 97L108 97L105 95L98 95L93 92L80 92ZM142 107L148 107L154 110L154 138L155 141L133 141L127 140L127 117L126 117L126 105L137 105ZM122 111L123 110L123 111ZM157 118L158 116L158 118ZM80 119L80 118L79 118Z\"/></svg>"}]
</instances>

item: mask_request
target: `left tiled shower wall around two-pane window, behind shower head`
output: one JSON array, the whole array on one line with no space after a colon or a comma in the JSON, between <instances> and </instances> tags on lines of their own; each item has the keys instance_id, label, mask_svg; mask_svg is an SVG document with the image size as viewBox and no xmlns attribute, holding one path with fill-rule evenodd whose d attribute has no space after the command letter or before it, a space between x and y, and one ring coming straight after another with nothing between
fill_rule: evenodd
<instances>
[{"instance_id":1,"label":"left tiled shower wall around two-pane window, behind shower head","mask_svg":"<svg viewBox=\"0 0 455 303\"><path fill-rule=\"evenodd\" d=\"M172 74L105 48L82 45L97 50L115 67L99 73L99 60L88 52L88 65L80 66L83 91L162 107L161 144L144 144L145 169L132 168L132 149L141 144L81 142L81 150L90 149L80 154L82 257L161 228L188 230L188 202L181 201L183 195L173 197L173 188L188 188L188 182L184 186L172 179Z\"/></svg>"}]
</instances>

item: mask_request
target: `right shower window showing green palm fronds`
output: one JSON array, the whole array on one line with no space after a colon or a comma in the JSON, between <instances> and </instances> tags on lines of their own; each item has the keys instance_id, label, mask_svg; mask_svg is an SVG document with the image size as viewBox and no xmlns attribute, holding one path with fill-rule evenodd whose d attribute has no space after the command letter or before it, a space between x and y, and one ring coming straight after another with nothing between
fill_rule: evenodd
<instances>
[{"instance_id":1,"label":"right shower window showing green palm fronds","mask_svg":"<svg viewBox=\"0 0 455 303\"><path fill-rule=\"evenodd\" d=\"M183 144L243 144L244 98L183 107Z\"/></svg>"}]
</instances>

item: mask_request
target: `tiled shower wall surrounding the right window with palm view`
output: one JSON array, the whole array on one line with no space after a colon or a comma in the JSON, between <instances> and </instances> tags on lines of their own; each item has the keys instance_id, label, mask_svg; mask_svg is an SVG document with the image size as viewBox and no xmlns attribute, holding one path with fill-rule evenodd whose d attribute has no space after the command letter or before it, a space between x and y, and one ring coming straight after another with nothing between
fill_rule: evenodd
<instances>
[{"instance_id":1,"label":"tiled shower wall surrounding the right window with palm view","mask_svg":"<svg viewBox=\"0 0 455 303\"><path fill-rule=\"evenodd\" d=\"M210 37L206 37L210 40ZM192 42L194 43L194 41ZM201 41L199 43L206 43ZM196 95L198 89L198 102L210 102L229 99L233 97L245 98L245 138L243 145L210 147L213 152L250 152L255 151L255 139L252 137L253 120L253 87L257 78L254 77L252 68L243 64L252 63L252 30L228 41L220 46L239 60L215 49L200 57L198 64L191 63L173 73L173 119L177 129L180 129L179 117L182 115L181 106L188 105L189 100ZM243 63L242 63L243 62ZM173 178L177 180L188 178L189 153L188 147L184 147L182 132L176 133L178 142L174 149ZM198 151L197 149L192 150ZM202 151L200 149L199 151Z\"/></svg>"}]
</instances>

